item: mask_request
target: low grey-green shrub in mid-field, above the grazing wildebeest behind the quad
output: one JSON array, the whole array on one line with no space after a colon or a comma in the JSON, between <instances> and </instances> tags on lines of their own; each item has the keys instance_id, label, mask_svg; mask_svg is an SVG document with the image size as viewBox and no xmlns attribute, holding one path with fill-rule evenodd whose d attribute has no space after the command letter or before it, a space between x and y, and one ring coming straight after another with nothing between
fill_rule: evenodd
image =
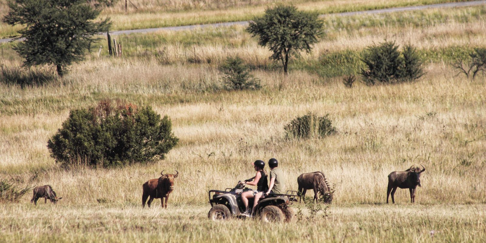
<instances>
[{"instance_id":1,"label":"low grey-green shrub in mid-field, above the grazing wildebeest behind the quad","mask_svg":"<svg viewBox=\"0 0 486 243\"><path fill-rule=\"evenodd\" d=\"M317 117L312 112L307 115L296 117L284 129L287 136L296 138L325 137L336 132L332 126L332 121L328 118L329 114L323 117Z\"/></svg>"}]
</instances>

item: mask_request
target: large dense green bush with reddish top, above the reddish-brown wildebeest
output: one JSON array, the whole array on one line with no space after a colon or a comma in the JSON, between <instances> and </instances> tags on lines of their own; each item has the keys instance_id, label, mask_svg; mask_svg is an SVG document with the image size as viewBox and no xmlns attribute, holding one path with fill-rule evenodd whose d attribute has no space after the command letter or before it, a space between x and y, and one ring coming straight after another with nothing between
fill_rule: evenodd
<instances>
[{"instance_id":1,"label":"large dense green bush with reddish top, above the reddish-brown wildebeest","mask_svg":"<svg viewBox=\"0 0 486 243\"><path fill-rule=\"evenodd\" d=\"M172 123L150 107L133 104L75 109L48 141L51 156L63 166L118 166L163 159L179 140Z\"/></svg>"}]
</instances>

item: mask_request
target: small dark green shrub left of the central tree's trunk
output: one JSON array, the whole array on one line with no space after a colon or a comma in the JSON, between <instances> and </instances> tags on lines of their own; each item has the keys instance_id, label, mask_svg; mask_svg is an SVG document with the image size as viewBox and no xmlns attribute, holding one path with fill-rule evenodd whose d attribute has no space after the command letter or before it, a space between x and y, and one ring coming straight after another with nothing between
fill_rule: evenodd
<instances>
[{"instance_id":1,"label":"small dark green shrub left of the central tree's trunk","mask_svg":"<svg viewBox=\"0 0 486 243\"><path fill-rule=\"evenodd\" d=\"M227 89L260 89L260 80L253 78L249 74L248 67L244 65L243 60L239 57L228 57L226 62L220 67L223 72L223 83Z\"/></svg>"}]
</instances>

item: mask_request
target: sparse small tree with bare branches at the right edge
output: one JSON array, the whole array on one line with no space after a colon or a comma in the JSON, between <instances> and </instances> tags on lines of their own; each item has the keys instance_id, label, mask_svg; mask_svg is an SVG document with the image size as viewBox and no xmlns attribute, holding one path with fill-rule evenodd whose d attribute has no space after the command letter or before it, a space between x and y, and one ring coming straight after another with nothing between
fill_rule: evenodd
<instances>
[{"instance_id":1,"label":"sparse small tree with bare branches at the right edge","mask_svg":"<svg viewBox=\"0 0 486 243\"><path fill-rule=\"evenodd\" d=\"M466 77L468 78L469 74L471 74L472 71L471 79L474 79L476 77L476 74L478 74L479 72L482 72L484 75L486 71L486 48L475 48L474 51L469 52L468 59L469 60L466 62L468 62L469 64L463 64L465 61L463 60L463 58L459 58L451 65L455 69L459 69L459 73L466 74ZM464 65L466 65L467 67L464 67Z\"/></svg>"}]
</instances>

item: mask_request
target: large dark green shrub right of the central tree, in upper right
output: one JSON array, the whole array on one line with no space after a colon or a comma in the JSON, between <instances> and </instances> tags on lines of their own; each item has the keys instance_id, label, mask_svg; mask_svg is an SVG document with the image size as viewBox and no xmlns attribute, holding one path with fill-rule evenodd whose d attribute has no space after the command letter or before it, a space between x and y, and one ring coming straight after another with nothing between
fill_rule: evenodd
<instances>
[{"instance_id":1,"label":"large dark green shrub right of the central tree, in upper right","mask_svg":"<svg viewBox=\"0 0 486 243\"><path fill-rule=\"evenodd\" d=\"M364 84L411 82L424 74L416 49L407 45L400 52L398 48L391 41L366 48L361 59L366 69L360 72Z\"/></svg>"}]
</instances>

